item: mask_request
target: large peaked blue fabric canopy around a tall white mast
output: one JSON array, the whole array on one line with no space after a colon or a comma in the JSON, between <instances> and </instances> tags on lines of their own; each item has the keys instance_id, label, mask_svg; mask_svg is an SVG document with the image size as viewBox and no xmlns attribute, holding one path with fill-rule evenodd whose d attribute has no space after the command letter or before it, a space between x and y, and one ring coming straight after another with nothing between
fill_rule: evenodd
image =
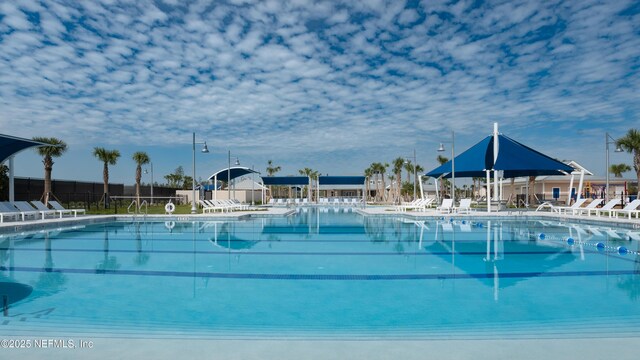
<instances>
[{"instance_id":1,"label":"large peaked blue fabric canopy around a tall white mast","mask_svg":"<svg viewBox=\"0 0 640 360\"><path fill-rule=\"evenodd\" d=\"M456 177L483 177L486 170L503 171L503 178L539 175L566 175L574 169L505 135L498 135L498 156L494 163L494 136L455 157ZM432 177L450 177L451 160L426 173Z\"/></svg>"}]
</instances>

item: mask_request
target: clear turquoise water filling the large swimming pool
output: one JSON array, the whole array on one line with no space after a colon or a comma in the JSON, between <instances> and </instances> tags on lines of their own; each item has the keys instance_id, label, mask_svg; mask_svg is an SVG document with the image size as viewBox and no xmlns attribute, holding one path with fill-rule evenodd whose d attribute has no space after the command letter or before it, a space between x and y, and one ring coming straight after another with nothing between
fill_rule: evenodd
<instances>
[{"instance_id":1,"label":"clear turquoise water filling the large swimming pool","mask_svg":"<svg viewBox=\"0 0 640 360\"><path fill-rule=\"evenodd\" d=\"M9 299L0 334L634 336L637 233L304 209L3 235L3 291L32 291Z\"/></svg>"}]
</instances>

